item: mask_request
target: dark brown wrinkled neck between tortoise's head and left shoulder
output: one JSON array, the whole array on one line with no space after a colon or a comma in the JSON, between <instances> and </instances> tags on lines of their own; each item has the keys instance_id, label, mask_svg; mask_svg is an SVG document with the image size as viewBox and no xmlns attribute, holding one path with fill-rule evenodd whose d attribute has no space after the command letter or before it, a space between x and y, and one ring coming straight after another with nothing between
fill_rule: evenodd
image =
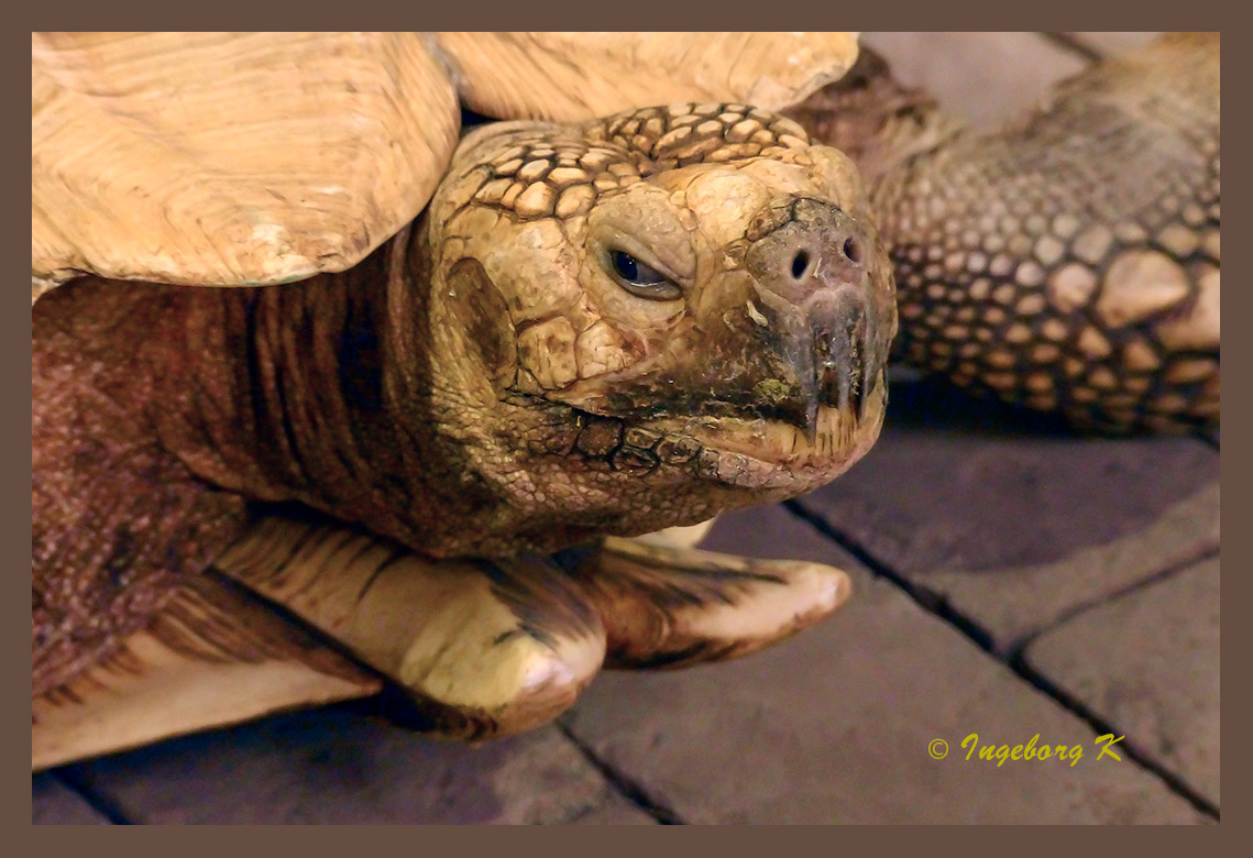
<instances>
[{"instance_id":1,"label":"dark brown wrinkled neck between tortoise's head and left shoulder","mask_svg":"<svg viewBox=\"0 0 1253 858\"><path fill-rule=\"evenodd\" d=\"M352 269L299 284L183 289L175 339L187 371L165 381L165 398L182 407L158 417L163 443L223 488L421 542L439 504L420 460L435 421L422 367L395 352L421 342L397 326L421 324L422 313L388 311L397 278L416 287L425 277L420 242L408 238L406 229Z\"/></svg>"}]
</instances>

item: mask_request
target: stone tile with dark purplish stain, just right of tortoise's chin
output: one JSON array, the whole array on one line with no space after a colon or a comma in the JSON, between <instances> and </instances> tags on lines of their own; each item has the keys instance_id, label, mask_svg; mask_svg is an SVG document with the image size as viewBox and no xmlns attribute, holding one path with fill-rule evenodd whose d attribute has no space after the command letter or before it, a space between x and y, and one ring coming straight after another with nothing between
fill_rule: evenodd
<instances>
[{"instance_id":1,"label":"stone tile with dark purplish stain, just right of tortoise's chin","mask_svg":"<svg viewBox=\"0 0 1253 858\"><path fill-rule=\"evenodd\" d=\"M1093 438L1049 417L895 385L878 443L801 500L1004 651L1213 552L1219 457L1195 438Z\"/></svg>"}]
</instances>

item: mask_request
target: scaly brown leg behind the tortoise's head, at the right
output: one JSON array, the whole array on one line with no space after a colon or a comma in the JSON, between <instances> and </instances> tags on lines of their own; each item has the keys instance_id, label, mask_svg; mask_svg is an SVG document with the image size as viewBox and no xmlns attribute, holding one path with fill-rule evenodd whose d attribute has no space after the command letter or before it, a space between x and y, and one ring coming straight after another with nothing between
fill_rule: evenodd
<instances>
[{"instance_id":1,"label":"scaly brown leg behind the tortoise's head, at the right","mask_svg":"<svg viewBox=\"0 0 1253 858\"><path fill-rule=\"evenodd\" d=\"M789 110L870 188L908 362L1105 431L1219 420L1219 45L1173 34L979 132L857 65Z\"/></svg>"}]
</instances>

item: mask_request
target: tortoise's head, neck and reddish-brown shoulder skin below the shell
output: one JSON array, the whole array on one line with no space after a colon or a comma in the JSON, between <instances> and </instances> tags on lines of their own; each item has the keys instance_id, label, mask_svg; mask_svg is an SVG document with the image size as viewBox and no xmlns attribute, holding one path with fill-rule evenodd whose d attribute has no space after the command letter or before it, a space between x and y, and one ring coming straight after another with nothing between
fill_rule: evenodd
<instances>
[{"instance_id":1,"label":"tortoise's head, neck and reddish-brown shoulder skin below the shell","mask_svg":"<svg viewBox=\"0 0 1253 858\"><path fill-rule=\"evenodd\" d=\"M878 435L896 327L866 215L794 123L679 105L472 133L424 217L345 274L45 296L35 694L142 628L246 499L499 556L832 480ZM611 249L677 297L629 292Z\"/></svg>"}]
</instances>

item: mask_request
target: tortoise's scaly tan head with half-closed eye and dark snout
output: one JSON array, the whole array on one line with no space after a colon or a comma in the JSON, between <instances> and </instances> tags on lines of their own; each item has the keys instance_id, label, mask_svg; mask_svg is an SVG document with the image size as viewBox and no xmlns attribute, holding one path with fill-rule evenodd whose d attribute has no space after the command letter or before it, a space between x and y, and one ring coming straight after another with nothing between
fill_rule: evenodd
<instances>
[{"instance_id":1,"label":"tortoise's scaly tan head with half-closed eye and dark snout","mask_svg":"<svg viewBox=\"0 0 1253 858\"><path fill-rule=\"evenodd\" d=\"M475 467L539 527L610 532L832 480L887 400L867 214L847 158L743 105L469 134L429 214L429 316Z\"/></svg>"}]
</instances>

